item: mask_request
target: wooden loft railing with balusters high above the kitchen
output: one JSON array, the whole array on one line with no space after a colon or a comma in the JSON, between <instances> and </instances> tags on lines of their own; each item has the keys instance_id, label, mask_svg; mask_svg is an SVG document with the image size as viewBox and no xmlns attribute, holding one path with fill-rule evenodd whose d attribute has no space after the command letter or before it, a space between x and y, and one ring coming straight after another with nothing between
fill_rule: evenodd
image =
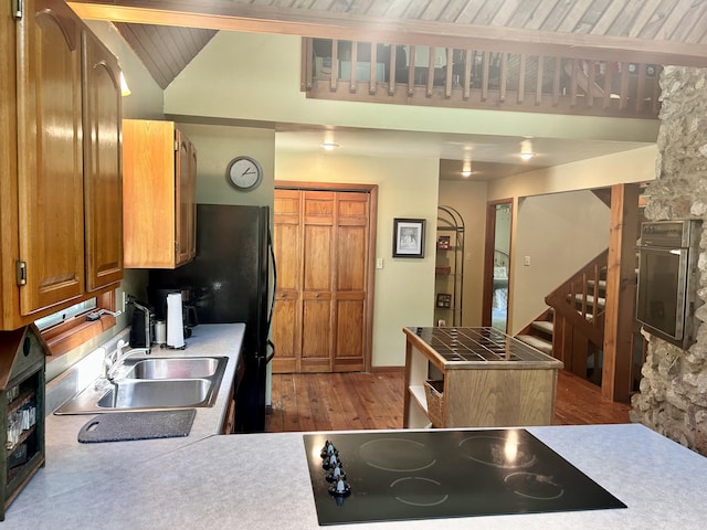
<instances>
[{"instance_id":1,"label":"wooden loft railing with balusters high above the kitchen","mask_svg":"<svg viewBox=\"0 0 707 530\"><path fill-rule=\"evenodd\" d=\"M307 97L656 118L654 64L303 39Z\"/></svg>"}]
</instances>

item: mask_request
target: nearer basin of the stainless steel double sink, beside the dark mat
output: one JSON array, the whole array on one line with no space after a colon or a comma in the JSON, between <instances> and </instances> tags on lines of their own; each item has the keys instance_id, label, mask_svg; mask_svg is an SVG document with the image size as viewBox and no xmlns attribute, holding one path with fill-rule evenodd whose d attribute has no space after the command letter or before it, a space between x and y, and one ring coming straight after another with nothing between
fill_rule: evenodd
<instances>
[{"instance_id":1,"label":"nearer basin of the stainless steel double sink, beside the dark mat","mask_svg":"<svg viewBox=\"0 0 707 530\"><path fill-rule=\"evenodd\" d=\"M207 406L212 383L208 379L124 379L98 400L105 409Z\"/></svg>"}]
</instances>

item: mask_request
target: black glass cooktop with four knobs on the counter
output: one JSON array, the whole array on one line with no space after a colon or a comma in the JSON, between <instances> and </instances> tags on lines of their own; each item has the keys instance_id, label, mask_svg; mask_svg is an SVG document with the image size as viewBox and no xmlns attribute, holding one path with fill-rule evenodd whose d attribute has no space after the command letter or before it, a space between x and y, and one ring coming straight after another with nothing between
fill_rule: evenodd
<instances>
[{"instance_id":1,"label":"black glass cooktop with four knobs on the counter","mask_svg":"<svg viewBox=\"0 0 707 530\"><path fill-rule=\"evenodd\" d=\"M525 430L304 441L319 524L626 507Z\"/></svg>"}]
</instances>

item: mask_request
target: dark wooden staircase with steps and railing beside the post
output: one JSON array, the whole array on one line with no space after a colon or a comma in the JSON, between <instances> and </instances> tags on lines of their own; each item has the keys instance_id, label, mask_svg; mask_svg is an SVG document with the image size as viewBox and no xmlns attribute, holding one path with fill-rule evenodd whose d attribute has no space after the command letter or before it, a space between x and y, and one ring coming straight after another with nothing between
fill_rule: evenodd
<instances>
[{"instance_id":1,"label":"dark wooden staircase with steps and railing beside the post","mask_svg":"<svg viewBox=\"0 0 707 530\"><path fill-rule=\"evenodd\" d=\"M595 384L602 375L608 256L609 250L546 296L549 308L517 336Z\"/></svg>"}]
</instances>

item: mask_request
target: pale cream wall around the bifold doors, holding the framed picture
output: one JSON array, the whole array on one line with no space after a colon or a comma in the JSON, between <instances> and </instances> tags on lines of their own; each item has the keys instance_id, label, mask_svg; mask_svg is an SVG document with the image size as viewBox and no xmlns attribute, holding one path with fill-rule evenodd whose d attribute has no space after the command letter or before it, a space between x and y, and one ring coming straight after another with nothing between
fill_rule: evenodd
<instances>
[{"instance_id":1,"label":"pale cream wall around the bifold doors, holding the framed picture","mask_svg":"<svg viewBox=\"0 0 707 530\"><path fill-rule=\"evenodd\" d=\"M276 152L277 180L378 184L378 231L373 307L373 367L403 365L407 326L432 326L434 234L437 208L436 159L350 157ZM426 220L425 257L393 258L393 218Z\"/></svg>"}]
</instances>

